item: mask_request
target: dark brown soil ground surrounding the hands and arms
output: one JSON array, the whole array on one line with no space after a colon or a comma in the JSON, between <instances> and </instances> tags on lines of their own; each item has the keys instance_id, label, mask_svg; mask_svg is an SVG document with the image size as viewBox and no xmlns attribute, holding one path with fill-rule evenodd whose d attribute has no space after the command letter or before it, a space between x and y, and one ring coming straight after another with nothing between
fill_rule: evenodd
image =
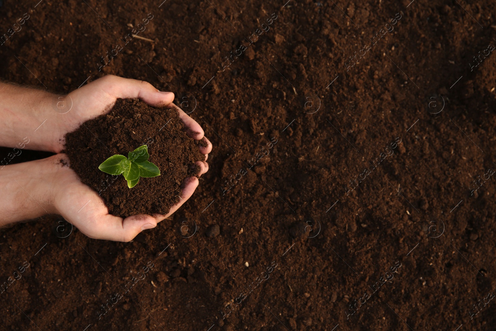
<instances>
[{"instance_id":1,"label":"dark brown soil ground surrounding the hands and arms","mask_svg":"<svg viewBox=\"0 0 496 331\"><path fill-rule=\"evenodd\" d=\"M496 328L485 299L496 285L496 178L471 196L496 167L496 54L470 66L496 45L494 0L36 2L3 1L3 30L30 15L0 47L3 79L73 90L101 77L100 57L152 13L139 35L154 42L134 39L104 71L177 93L214 149L173 220L130 243L66 236L48 216L3 230L1 281L30 266L0 294L0 329ZM272 137L269 155L223 192Z\"/></svg>"}]
</instances>

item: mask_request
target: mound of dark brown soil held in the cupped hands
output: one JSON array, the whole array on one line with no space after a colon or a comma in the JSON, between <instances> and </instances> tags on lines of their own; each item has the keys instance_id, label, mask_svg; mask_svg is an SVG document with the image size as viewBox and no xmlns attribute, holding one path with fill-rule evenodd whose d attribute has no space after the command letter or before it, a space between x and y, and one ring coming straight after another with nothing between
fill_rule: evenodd
<instances>
[{"instance_id":1,"label":"mound of dark brown soil held in the cupped hands","mask_svg":"<svg viewBox=\"0 0 496 331\"><path fill-rule=\"evenodd\" d=\"M195 161L203 161L201 140L184 131L175 108L148 106L138 99L118 99L114 108L96 119L86 121L65 135L65 153L70 168L100 194L109 213L126 217L135 214L167 214L180 201L181 184L186 177L197 176ZM112 176L98 169L107 158L148 145L150 162L161 175L141 178L129 189L124 176Z\"/></svg>"}]
</instances>

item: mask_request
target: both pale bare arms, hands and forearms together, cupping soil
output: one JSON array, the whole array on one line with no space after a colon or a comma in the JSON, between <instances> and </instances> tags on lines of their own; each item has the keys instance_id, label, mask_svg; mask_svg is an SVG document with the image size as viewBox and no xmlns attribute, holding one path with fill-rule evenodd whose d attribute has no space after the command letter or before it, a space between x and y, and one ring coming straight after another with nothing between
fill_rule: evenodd
<instances>
[{"instance_id":1,"label":"both pale bare arms, hands and forearms together, cupping soil","mask_svg":"<svg viewBox=\"0 0 496 331\"><path fill-rule=\"evenodd\" d=\"M61 153L65 133L108 113L118 98L139 98L158 107L171 104L174 93L161 92L144 81L113 75L86 84L67 96L0 82L0 145L19 148L19 143L27 137L29 143L25 149L58 153L42 160L0 165L3 186L0 226L60 214L90 238L127 242L141 231L156 227L191 197L198 186L196 177L185 179L182 200L167 215L139 214L123 219L109 214L98 193L82 184L73 170L61 165L61 159L68 163L67 156ZM212 144L204 137L200 125L176 108L187 134L207 142L206 147L199 147L205 160L196 162L201 168L200 175L204 174L208 171L206 160Z\"/></svg>"}]
</instances>

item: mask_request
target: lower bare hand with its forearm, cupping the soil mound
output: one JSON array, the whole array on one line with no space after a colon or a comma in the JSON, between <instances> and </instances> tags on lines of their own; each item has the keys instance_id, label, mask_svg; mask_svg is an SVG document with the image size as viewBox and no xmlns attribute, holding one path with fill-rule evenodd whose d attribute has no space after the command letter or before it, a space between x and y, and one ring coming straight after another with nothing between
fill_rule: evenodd
<instances>
[{"instance_id":1,"label":"lower bare hand with its forearm, cupping the soil mound","mask_svg":"<svg viewBox=\"0 0 496 331\"><path fill-rule=\"evenodd\" d=\"M67 165L65 154L42 160L5 166L0 181L5 194L0 199L0 226L33 219L44 214L60 214L82 233L94 239L130 241L141 231L157 226L172 215L198 186L196 177L183 183L182 200L167 215L133 215L126 218L109 214L97 192L81 183ZM207 171L206 168L202 173Z\"/></svg>"}]
</instances>

